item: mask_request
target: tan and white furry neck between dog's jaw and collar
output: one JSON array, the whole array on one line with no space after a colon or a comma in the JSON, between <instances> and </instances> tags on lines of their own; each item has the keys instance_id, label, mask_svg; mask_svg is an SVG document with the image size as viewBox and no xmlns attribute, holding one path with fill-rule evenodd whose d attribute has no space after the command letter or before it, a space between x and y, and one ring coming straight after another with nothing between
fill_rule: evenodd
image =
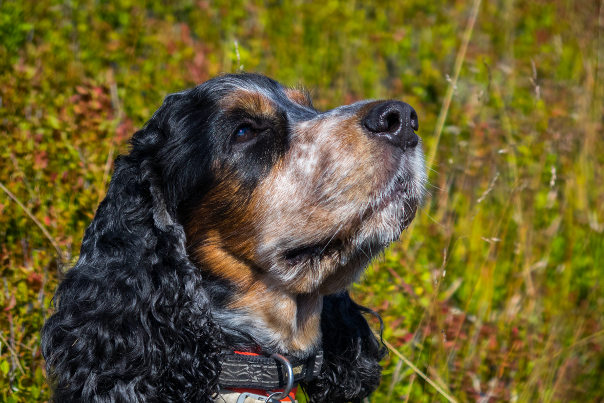
<instances>
[{"instance_id":1,"label":"tan and white furry neck between dog's jaw and collar","mask_svg":"<svg viewBox=\"0 0 604 403\"><path fill-rule=\"evenodd\" d=\"M318 291L290 294L262 281L244 290L208 276L205 289L214 319L225 332L226 347L298 357L320 349L323 297Z\"/></svg>"}]
</instances>

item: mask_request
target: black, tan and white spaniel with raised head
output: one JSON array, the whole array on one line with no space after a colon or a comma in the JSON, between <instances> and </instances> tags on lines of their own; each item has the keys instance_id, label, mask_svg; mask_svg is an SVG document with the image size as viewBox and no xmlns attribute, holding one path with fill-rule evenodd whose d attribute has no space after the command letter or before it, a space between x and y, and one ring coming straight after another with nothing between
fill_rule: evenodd
<instances>
[{"instance_id":1,"label":"black, tan and white spaniel with raised head","mask_svg":"<svg viewBox=\"0 0 604 403\"><path fill-rule=\"evenodd\" d=\"M319 112L260 74L165 97L57 288L53 400L214 402L225 363L283 389L295 360L309 402L370 395L386 350L348 290L422 200L417 129L400 101Z\"/></svg>"}]
</instances>

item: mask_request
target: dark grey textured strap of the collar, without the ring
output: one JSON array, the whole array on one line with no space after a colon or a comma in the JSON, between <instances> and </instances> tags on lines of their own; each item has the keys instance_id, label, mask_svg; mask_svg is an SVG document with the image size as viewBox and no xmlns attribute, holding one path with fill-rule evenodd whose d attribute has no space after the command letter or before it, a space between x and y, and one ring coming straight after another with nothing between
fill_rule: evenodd
<instances>
[{"instance_id":1,"label":"dark grey textured strap of the collar, without the ring","mask_svg":"<svg viewBox=\"0 0 604 403\"><path fill-rule=\"evenodd\" d=\"M307 358L286 356L294 372L294 382L310 382L319 375L323 351ZM278 360L255 353L237 351L220 354L220 388L283 389L288 384L287 369Z\"/></svg>"}]
</instances>

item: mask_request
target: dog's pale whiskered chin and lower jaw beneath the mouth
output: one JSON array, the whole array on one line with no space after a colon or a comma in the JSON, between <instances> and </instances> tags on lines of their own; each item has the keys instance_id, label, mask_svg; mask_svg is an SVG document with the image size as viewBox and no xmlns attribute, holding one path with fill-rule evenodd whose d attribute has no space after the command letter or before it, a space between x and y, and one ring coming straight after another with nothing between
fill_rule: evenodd
<instances>
[{"instance_id":1,"label":"dog's pale whiskered chin and lower jaw beneath the mouth","mask_svg":"<svg viewBox=\"0 0 604 403\"><path fill-rule=\"evenodd\" d=\"M353 215L349 224L333 229L335 235L287 250L281 265L292 274L289 287L302 293L318 288L322 294L349 288L371 259L399 240L413 221L420 199L409 189L396 180L367 209Z\"/></svg>"}]
</instances>

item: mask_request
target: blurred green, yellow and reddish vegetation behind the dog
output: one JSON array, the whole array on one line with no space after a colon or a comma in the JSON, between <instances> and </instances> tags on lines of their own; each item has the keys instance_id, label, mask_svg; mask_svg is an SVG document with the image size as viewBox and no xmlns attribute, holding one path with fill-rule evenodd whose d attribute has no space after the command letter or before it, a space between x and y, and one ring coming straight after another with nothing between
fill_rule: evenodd
<instances>
[{"instance_id":1,"label":"blurred green, yellow and reddish vegetation behind the dog","mask_svg":"<svg viewBox=\"0 0 604 403\"><path fill-rule=\"evenodd\" d=\"M371 402L602 402L603 29L596 0L1 0L0 401L48 399L57 249L126 139L240 68L419 113L428 198L355 288L417 370L391 352Z\"/></svg>"}]
</instances>

